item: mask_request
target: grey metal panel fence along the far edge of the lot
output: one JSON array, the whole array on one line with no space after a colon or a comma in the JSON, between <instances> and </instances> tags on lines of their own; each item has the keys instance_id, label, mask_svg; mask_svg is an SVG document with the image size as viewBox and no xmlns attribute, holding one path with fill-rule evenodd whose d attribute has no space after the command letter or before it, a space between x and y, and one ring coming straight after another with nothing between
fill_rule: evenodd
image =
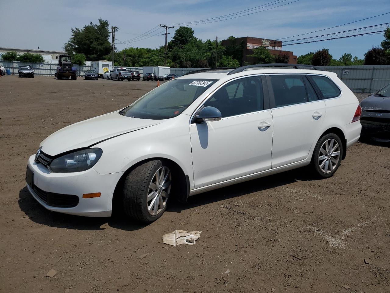
<instances>
[{"instance_id":1,"label":"grey metal panel fence along the far edge of the lot","mask_svg":"<svg viewBox=\"0 0 390 293\"><path fill-rule=\"evenodd\" d=\"M18 74L19 66L31 65L34 67L35 75L54 75L57 69L57 63L28 64L19 61L2 62L5 69L9 69L11 74ZM78 76L83 76L85 71L90 70L91 66L74 65ZM127 67L128 70L138 70L141 78L144 76L144 68ZM390 65L360 65L360 66L321 66L322 70L337 73L337 76L355 92L374 93L390 83ZM202 68L171 68L170 73L183 75L185 73L199 70Z\"/></svg>"}]
</instances>

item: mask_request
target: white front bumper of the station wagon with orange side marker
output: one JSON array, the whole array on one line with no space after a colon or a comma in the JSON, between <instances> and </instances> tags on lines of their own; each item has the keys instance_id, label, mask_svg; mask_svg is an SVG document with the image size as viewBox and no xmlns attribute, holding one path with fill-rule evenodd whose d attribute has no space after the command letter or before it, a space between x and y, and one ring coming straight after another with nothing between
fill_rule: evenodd
<instances>
[{"instance_id":1,"label":"white front bumper of the station wagon with orange side marker","mask_svg":"<svg viewBox=\"0 0 390 293\"><path fill-rule=\"evenodd\" d=\"M39 197L38 191L27 185L28 191L46 209L59 213L89 217L107 217L112 213L112 198L115 186L123 172L99 174L93 168L75 173L50 173L41 163L34 162L34 155L28 159L28 168L34 172L33 186L46 193L75 195L79 198L75 207L53 207ZM100 192L100 197L83 198L85 193Z\"/></svg>"}]
</instances>

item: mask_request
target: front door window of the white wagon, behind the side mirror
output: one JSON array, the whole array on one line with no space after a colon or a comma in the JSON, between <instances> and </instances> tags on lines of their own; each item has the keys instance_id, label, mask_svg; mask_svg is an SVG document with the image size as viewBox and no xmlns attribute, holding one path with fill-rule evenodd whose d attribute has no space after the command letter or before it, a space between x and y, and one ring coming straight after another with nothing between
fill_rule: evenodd
<instances>
[{"instance_id":1,"label":"front door window of the white wagon, behind the side mirror","mask_svg":"<svg viewBox=\"0 0 390 293\"><path fill-rule=\"evenodd\" d=\"M234 80L218 89L207 102L221 111L222 118L264 109L261 78L246 77Z\"/></svg>"}]
</instances>

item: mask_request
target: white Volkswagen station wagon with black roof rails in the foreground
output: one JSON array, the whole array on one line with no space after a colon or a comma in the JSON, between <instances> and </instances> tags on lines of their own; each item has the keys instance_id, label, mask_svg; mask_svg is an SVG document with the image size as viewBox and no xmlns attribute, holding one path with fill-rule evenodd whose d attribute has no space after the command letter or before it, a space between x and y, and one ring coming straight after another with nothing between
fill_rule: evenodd
<instances>
[{"instance_id":1,"label":"white Volkswagen station wagon with black roof rails in the foreground","mask_svg":"<svg viewBox=\"0 0 390 293\"><path fill-rule=\"evenodd\" d=\"M306 165L332 176L360 137L360 113L337 75L314 66L193 71L51 134L28 159L27 188L51 211L105 217L115 200L153 222L172 197Z\"/></svg>"}]
</instances>

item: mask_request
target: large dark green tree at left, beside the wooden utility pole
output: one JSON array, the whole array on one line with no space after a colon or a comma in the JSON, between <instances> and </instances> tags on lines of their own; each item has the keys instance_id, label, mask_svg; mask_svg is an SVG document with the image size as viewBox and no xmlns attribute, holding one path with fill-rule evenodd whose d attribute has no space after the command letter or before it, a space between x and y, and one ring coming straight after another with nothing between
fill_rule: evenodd
<instances>
[{"instance_id":1,"label":"large dark green tree at left, beside the wooden utility pole","mask_svg":"<svg viewBox=\"0 0 390 293\"><path fill-rule=\"evenodd\" d=\"M71 29L72 36L68 43L65 44L67 51L70 53L82 53L87 60L96 61L103 59L112 50L108 41L111 34L110 24L107 20L99 18L99 23L90 22L82 29Z\"/></svg>"}]
</instances>

